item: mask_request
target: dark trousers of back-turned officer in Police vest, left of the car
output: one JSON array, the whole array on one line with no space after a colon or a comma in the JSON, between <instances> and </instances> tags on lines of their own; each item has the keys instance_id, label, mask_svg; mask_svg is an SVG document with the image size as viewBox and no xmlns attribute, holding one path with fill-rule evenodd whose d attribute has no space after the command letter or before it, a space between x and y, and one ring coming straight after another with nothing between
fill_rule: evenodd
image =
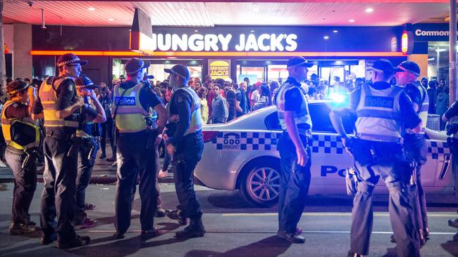
<instances>
[{"instance_id":1,"label":"dark trousers of back-turned officer in Police vest, left of the car","mask_svg":"<svg viewBox=\"0 0 458 257\"><path fill-rule=\"evenodd\" d=\"M147 149L146 131L138 133L120 133L118 138L118 181L116 182L116 231L124 233L130 226L132 200L135 197L137 176L140 174L140 223L142 230L154 228L154 211L156 210L156 159Z\"/></svg>"}]
</instances>

